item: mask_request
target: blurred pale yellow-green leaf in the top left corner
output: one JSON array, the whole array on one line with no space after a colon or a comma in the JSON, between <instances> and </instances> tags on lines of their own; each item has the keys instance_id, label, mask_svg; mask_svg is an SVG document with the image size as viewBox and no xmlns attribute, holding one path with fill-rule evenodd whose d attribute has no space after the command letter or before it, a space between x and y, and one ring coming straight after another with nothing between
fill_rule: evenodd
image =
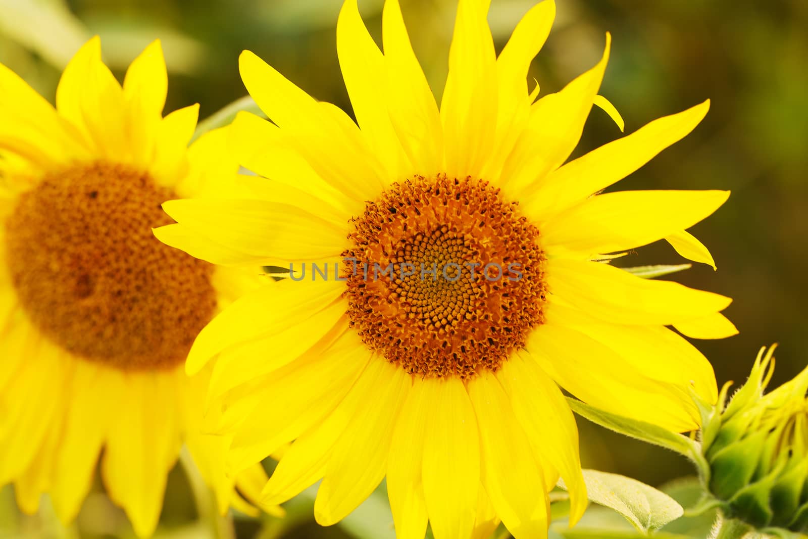
<instances>
[{"instance_id":1,"label":"blurred pale yellow-green leaf in the top left corner","mask_svg":"<svg viewBox=\"0 0 808 539\"><path fill-rule=\"evenodd\" d=\"M90 31L60 0L0 0L0 32L62 69Z\"/></svg>"}]
</instances>

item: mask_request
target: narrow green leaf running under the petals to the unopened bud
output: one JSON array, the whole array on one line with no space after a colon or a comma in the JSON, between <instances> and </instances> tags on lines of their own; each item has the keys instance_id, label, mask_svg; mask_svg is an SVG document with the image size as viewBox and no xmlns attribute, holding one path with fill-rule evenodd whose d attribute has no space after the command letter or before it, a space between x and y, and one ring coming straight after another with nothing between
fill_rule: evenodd
<instances>
[{"instance_id":1,"label":"narrow green leaf running under the petals to the unopened bud","mask_svg":"<svg viewBox=\"0 0 808 539\"><path fill-rule=\"evenodd\" d=\"M576 398L567 397L566 400L570 408L572 408L572 411L589 419L592 423L597 423L601 427L606 427L609 430L619 432L625 436L675 451L696 462L696 464L699 465L700 471L709 470L709 466L704 461L704 457L701 456L701 448L698 442L690 440L687 436L676 434L675 432L668 431L658 425L646 423L645 421L629 419L622 415L600 410L600 408L590 406L586 402L579 401Z\"/></svg>"}]
</instances>

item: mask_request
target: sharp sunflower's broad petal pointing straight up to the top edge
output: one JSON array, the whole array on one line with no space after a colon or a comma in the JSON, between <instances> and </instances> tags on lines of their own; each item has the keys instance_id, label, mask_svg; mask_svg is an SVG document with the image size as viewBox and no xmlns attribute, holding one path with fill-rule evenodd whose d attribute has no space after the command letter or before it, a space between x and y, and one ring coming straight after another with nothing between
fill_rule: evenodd
<instances>
[{"instance_id":1,"label":"sharp sunflower's broad petal pointing straight up to the top edge","mask_svg":"<svg viewBox=\"0 0 808 539\"><path fill-rule=\"evenodd\" d=\"M480 177L497 123L497 74L494 40L486 15L490 0L460 0L457 6L449 73L440 103L444 125L446 174Z\"/></svg>"}]
</instances>

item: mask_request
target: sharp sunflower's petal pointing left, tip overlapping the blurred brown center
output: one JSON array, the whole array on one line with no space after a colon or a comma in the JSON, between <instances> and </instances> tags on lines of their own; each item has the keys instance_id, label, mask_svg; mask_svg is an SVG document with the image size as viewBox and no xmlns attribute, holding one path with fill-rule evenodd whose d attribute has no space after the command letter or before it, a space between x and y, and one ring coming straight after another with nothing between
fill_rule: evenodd
<instances>
[{"instance_id":1,"label":"sharp sunflower's petal pointing left, tip overlapping the blurred brown center","mask_svg":"<svg viewBox=\"0 0 808 539\"><path fill-rule=\"evenodd\" d=\"M285 262L338 257L347 227L267 200L169 200L163 210L181 225L234 251Z\"/></svg>"}]
</instances>

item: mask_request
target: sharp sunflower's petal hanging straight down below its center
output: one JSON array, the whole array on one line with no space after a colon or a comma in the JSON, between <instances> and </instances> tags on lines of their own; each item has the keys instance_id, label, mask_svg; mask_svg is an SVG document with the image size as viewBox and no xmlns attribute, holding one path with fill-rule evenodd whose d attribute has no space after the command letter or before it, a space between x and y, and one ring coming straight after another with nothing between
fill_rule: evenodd
<instances>
[{"instance_id":1,"label":"sharp sunflower's petal hanging straight down below its center","mask_svg":"<svg viewBox=\"0 0 808 539\"><path fill-rule=\"evenodd\" d=\"M471 535L480 486L477 419L463 382L423 381L427 433L423 444L423 495L435 539Z\"/></svg>"}]
</instances>

